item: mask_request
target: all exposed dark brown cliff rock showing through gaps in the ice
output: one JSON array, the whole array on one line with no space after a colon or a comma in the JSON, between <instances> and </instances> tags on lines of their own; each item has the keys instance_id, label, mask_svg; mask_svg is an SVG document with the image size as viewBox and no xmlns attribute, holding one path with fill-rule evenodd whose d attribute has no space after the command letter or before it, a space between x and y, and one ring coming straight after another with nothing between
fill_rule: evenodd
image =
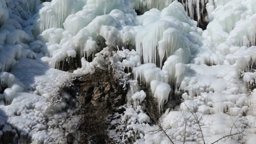
<instances>
[{"instance_id":1,"label":"all exposed dark brown cliff rock showing through gaps in the ice","mask_svg":"<svg viewBox=\"0 0 256 144\"><path fill-rule=\"evenodd\" d=\"M188 16L190 16L190 10L186 6L185 0L178 0L184 5ZM196 5L194 5L196 7ZM193 9L192 18L198 21L198 26L203 30L206 29L208 24L206 3L202 5L200 3L200 18L198 18L197 9ZM147 8L137 9L138 15L144 13ZM105 45L104 42L100 45ZM102 46L101 46L102 47ZM59 66L62 70L76 69L80 62L77 58L70 58L70 62L64 62L64 66ZM90 57L88 61L92 61ZM71 71L72 72L72 71ZM118 79L115 78L114 73L108 68L98 68L93 74L86 74L74 81L79 87L78 103L80 104L78 115L81 117L77 127L77 131L66 134L68 143L80 143L80 144L112 144L114 141L109 136L110 131L116 133L123 133L122 129L118 127L120 122L113 123L112 121L120 120L121 115L125 109L122 107L126 104L126 96L128 88L123 88ZM143 110L146 114L150 115L151 124L157 123L160 118L158 111L158 104L156 98L152 96L150 88L145 84L141 87L147 94L146 99L142 102ZM173 95L177 95L173 92ZM180 98L180 96L178 97ZM174 103L174 104L170 104ZM164 106L164 110L169 105L175 107L180 104L180 99L177 101L170 101ZM133 143L134 139L128 138L126 142ZM118 142L116 142L118 143Z\"/></svg>"}]
</instances>

